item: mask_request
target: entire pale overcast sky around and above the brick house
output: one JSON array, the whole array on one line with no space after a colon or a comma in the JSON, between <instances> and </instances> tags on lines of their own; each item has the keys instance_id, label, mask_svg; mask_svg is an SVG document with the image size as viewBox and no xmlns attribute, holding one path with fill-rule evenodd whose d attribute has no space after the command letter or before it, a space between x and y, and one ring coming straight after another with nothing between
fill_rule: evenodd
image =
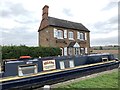
<instances>
[{"instance_id":1,"label":"entire pale overcast sky around and above the brick house","mask_svg":"<svg viewBox=\"0 0 120 90\"><path fill-rule=\"evenodd\" d=\"M118 44L119 0L0 0L0 45L38 46L42 8L49 16L82 23L90 46Z\"/></svg>"}]
</instances>

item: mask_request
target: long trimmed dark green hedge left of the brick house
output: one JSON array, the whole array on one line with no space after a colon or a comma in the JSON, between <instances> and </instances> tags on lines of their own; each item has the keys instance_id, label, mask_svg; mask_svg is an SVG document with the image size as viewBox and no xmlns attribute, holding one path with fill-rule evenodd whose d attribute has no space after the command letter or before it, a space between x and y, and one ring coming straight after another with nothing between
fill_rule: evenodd
<instances>
[{"instance_id":1,"label":"long trimmed dark green hedge left of the brick house","mask_svg":"<svg viewBox=\"0 0 120 90\"><path fill-rule=\"evenodd\" d=\"M24 55L33 58L58 56L61 55L61 50L54 47L2 46L2 59L17 59Z\"/></svg>"}]
</instances>

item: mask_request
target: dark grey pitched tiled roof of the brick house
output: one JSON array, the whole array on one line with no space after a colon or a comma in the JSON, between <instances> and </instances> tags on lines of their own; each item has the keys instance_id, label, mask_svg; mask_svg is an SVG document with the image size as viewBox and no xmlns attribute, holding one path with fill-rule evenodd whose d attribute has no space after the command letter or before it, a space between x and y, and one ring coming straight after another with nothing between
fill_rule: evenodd
<instances>
[{"instance_id":1,"label":"dark grey pitched tiled roof of the brick house","mask_svg":"<svg viewBox=\"0 0 120 90\"><path fill-rule=\"evenodd\" d=\"M62 27L67 29L83 30L89 32L89 30L81 23L62 20L54 17L48 17L48 23L50 26Z\"/></svg>"}]
</instances>

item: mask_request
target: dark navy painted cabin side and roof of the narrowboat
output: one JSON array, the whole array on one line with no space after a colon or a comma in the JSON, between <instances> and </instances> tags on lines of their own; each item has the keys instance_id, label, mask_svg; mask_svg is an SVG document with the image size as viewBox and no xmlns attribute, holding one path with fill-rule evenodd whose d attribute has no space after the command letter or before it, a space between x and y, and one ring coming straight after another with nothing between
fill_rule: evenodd
<instances>
[{"instance_id":1,"label":"dark navy painted cabin side and roof of the narrowboat","mask_svg":"<svg viewBox=\"0 0 120 90\"><path fill-rule=\"evenodd\" d=\"M61 56L61 57L44 57L36 59L26 59L26 60L16 60L8 61L5 64L5 72L3 77L7 76L17 76L18 66L25 65L27 62L32 62L38 65L38 72L43 71L42 61L54 59L56 62L56 69L60 69L59 61L69 61L74 60L75 66L92 64L102 61L102 57L108 57L109 60L114 60L115 58L111 54L96 54L96 55L82 55L82 56ZM66 63L65 63L66 65ZM67 65L66 65L67 66Z\"/></svg>"}]
</instances>

